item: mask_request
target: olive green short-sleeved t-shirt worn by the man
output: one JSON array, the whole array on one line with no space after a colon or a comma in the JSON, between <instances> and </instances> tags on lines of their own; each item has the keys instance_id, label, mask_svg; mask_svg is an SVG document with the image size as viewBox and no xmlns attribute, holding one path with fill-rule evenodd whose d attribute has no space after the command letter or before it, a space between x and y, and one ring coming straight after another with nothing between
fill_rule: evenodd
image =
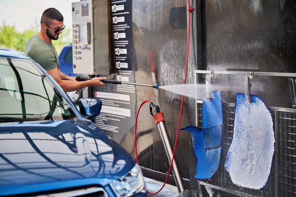
<instances>
[{"instance_id":1,"label":"olive green short-sleeved t-shirt worn by the man","mask_svg":"<svg viewBox=\"0 0 296 197\"><path fill-rule=\"evenodd\" d=\"M49 71L60 67L59 56L53 44L48 44L38 36L32 36L26 44L25 55Z\"/></svg>"}]
</instances>

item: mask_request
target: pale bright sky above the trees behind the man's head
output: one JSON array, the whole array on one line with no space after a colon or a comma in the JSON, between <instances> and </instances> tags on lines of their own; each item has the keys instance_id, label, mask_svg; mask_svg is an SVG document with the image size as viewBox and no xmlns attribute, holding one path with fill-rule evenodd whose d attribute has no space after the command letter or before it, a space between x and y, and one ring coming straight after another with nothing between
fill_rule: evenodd
<instances>
[{"instance_id":1,"label":"pale bright sky above the trees behind the man's head","mask_svg":"<svg viewBox=\"0 0 296 197\"><path fill-rule=\"evenodd\" d=\"M43 11L55 8L64 17L66 30L72 26L72 2L79 0L0 0L0 27L5 21L7 25L13 26L18 32L35 27L38 22L40 30L40 19Z\"/></svg>"}]
</instances>

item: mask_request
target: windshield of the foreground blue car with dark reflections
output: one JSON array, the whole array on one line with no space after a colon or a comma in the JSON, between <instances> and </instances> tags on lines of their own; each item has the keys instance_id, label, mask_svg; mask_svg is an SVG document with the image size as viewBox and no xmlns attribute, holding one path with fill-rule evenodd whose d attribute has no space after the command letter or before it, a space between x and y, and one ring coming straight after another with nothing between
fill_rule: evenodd
<instances>
[{"instance_id":1,"label":"windshield of the foreground blue car with dark reflections","mask_svg":"<svg viewBox=\"0 0 296 197\"><path fill-rule=\"evenodd\" d=\"M0 59L0 122L73 118L67 101L29 59Z\"/></svg>"}]
</instances>

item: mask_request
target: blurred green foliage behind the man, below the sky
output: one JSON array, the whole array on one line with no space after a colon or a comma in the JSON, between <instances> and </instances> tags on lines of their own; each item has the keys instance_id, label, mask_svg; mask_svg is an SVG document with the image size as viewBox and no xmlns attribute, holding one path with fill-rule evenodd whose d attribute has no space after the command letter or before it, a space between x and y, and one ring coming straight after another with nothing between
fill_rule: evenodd
<instances>
[{"instance_id":1,"label":"blurred green foliage behind the man, below the sky","mask_svg":"<svg viewBox=\"0 0 296 197\"><path fill-rule=\"evenodd\" d=\"M19 33L16 31L15 25L11 27L4 21L3 26L0 27L0 48L11 48L24 53L28 40L39 32L39 26L40 25L36 21L35 27L31 26L23 33ZM71 43L71 38L69 37L70 34L70 30L64 30L63 33L60 34L58 40L52 41L58 54L60 54L65 45Z\"/></svg>"}]
</instances>

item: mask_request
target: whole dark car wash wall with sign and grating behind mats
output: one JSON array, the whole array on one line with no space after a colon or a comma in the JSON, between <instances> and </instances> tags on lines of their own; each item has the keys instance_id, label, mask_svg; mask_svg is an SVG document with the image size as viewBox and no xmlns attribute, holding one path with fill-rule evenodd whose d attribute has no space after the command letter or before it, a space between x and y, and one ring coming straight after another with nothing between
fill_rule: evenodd
<instances>
[{"instance_id":1,"label":"whole dark car wash wall with sign and grating behind mats","mask_svg":"<svg viewBox=\"0 0 296 197\"><path fill-rule=\"evenodd\" d=\"M208 192L213 192L213 196L295 195L296 114L290 99L288 77L280 76L281 73L295 73L296 3L291 0L248 0L190 1L190 4L194 10L191 14L187 84L205 83L206 75L196 70L207 70L214 72L212 84L226 88L221 90L222 154L211 179L200 182L195 179L197 163L191 135L186 131L179 133L175 156L186 189L198 189L204 196L209 195ZM112 1L110 6L114 5L121 3ZM125 38L112 41L112 61L118 70L113 79L159 86L183 84L188 39L187 1L131 1L124 6L125 14L118 14L123 11L111 12L111 17L125 16L125 23L117 21L112 24L113 34L125 31ZM127 50L126 55L123 49ZM120 55L121 52L124 55ZM226 74L215 74L215 71L225 71ZM243 74L231 75L230 72L277 73L276 76L254 75L252 78L251 94L259 95L268 107L275 139L270 176L261 189L234 184L224 168L233 137L235 94L245 92ZM117 94L118 99L111 98L108 93ZM89 94L100 98L104 104L95 123L134 158L134 121L144 100L160 106L175 145L181 95L163 89L114 84L94 88ZM201 101L184 98L180 128L189 125L203 128ZM116 111L118 109L121 111ZM170 164L148 105L143 105L139 113L136 137L139 165L144 175L164 181ZM174 184L173 177L169 178L169 183Z\"/></svg>"}]
</instances>

